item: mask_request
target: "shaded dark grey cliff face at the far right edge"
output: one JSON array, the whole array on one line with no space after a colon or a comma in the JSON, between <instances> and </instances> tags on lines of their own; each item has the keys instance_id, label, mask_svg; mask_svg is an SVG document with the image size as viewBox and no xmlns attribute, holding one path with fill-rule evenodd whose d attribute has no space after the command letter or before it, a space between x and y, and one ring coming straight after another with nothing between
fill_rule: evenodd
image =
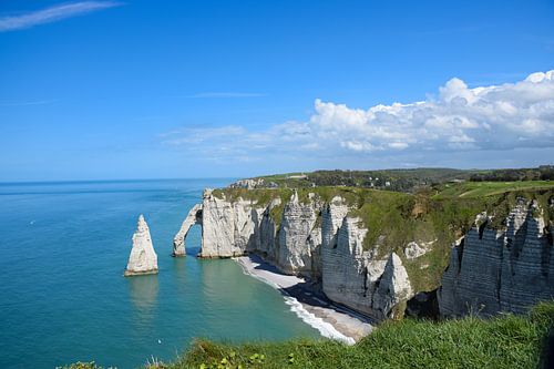
<instances>
[{"instance_id":1,"label":"shaded dark grey cliff face at the far right edge","mask_svg":"<svg viewBox=\"0 0 554 369\"><path fill-rule=\"evenodd\" d=\"M478 223L453 247L438 294L441 315L524 312L554 296L553 247L538 211L520 199L506 229Z\"/></svg>"}]
</instances>

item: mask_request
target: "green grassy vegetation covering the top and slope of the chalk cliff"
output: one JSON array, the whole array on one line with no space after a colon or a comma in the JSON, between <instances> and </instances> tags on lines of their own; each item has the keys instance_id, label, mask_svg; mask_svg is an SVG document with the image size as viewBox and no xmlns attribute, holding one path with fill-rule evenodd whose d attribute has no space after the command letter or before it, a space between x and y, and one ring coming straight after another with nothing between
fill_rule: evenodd
<instances>
[{"instance_id":1,"label":"green grassy vegetation covering the top and slope of the chalk cliff","mask_svg":"<svg viewBox=\"0 0 554 369\"><path fill-rule=\"evenodd\" d=\"M285 204L294 191L223 188L214 191L214 195L228 201L243 198L259 206L280 198L280 204L270 209L270 217L279 226ZM548 181L448 183L421 188L414 194L345 186L296 191L299 202L305 204L342 197L351 208L349 216L360 218L360 227L368 229L363 248L371 250L376 258L397 253L412 288L420 291L439 286L452 244L473 226L478 214L486 212L492 217L488 226L501 229L517 198L524 197L536 199L545 212L545 219L554 221L554 208L550 205L554 199L554 183ZM408 259L403 250L410 242L424 245L428 252L417 259Z\"/></svg>"}]
</instances>

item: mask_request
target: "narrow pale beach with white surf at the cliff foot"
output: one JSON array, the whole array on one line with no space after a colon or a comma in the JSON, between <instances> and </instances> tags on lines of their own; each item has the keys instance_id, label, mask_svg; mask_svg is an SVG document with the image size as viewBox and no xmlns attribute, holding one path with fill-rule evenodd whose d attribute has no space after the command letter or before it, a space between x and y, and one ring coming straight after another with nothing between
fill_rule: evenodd
<instances>
[{"instance_id":1,"label":"narrow pale beach with white surf at the cliff foot","mask_svg":"<svg viewBox=\"0 0 554 369\"><path fill-rule=\"evenodd\" d=\"M257 255L240 256L235 260L246 274L277 288L291 310L324 337L353 345L371 332L372 326L366 317L332 304L314 291L304 278L285 275Z\"/></svg>"}]
</instances>

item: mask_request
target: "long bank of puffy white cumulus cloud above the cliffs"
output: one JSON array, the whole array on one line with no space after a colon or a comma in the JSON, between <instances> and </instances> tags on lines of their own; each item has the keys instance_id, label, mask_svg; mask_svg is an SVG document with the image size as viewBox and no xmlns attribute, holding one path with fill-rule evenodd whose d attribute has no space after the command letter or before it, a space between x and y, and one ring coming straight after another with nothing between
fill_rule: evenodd
<instances>
[{"instance_id":1,"label":"long bank of puffy white cumulus cloud above the cliffs","mask_svg":"<svg viewBox=\"0 0 554 369\"><path fill-rule=\"evenodd\" d=\"M412 103L363 110L317 99L314 107L306 122L260 132L240 126L199 129L179 132L166 142L202 145L218 158L260 151L266 156L325 160L554 147L554 71L473 89L454 78L437 95Z\"/></svg>"}]
</instances>

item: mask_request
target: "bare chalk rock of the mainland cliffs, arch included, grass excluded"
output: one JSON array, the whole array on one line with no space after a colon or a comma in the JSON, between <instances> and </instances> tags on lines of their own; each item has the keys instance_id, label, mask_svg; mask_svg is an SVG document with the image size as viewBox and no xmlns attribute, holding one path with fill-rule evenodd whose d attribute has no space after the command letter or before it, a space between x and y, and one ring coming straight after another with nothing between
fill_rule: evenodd
<instances>
[{"instance_id":1,"label":"bare chalk rock of the mainland cliffs, arch included, grass excluded","mask_svg":"<svg viewBox=\"0 0 554 369\"><path fill-rule=\"evenodd\" d=\"M437 239L413 239L399 245L398 253L379 253L378 247L363 248L368 229L349 215L351 205L340 196L324 202L309 194L299 201L295 192L285 204L279 197L258 204L225 196L225 191L215 196L206 189L175 237L177 244L184 245L189 224L201 223L199 257L259 254L284 273L319 281L332 301L377 320L402 317L407 303L423 293L413 287L404 265L413 270L421 263L418 273L424 273L428 265L419 260ZM276 206L283 209L273 212ZM437 294L441 315L521 312L554 296L554 248L543 217L534 217L538 211L521 203L505 230L489 228L486 214L478 216L476 226L452 249ZM273 213L280 214L279 222Z\"/></svg>"}]
</instances>

